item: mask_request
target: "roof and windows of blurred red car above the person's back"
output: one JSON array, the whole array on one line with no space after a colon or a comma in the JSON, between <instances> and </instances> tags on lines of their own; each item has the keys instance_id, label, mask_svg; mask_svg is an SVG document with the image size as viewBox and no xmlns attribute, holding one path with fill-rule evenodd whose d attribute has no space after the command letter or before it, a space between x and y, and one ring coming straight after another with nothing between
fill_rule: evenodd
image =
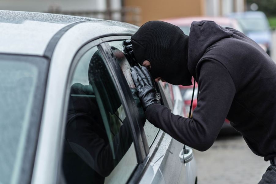
<instances>
[{"instance_id":1,"label":"roof and windows of blurred red car above the person's back","mask_svg":"<svg viewBox=\"0 0 276 184\"><path fill-rule=\"evenodd\" d=\"M181 30L186 34L189 35L190 27L193 21L200 21L200 20L213 20L217 24L221 25L223 28L234 28L238 31L244 32L241 25L238 23L237 20L228 17L183 17L183 18L170 18L170 19L162 19L162 21L168 22L170 24L174 24L181 28Z\"/></svg>"}]
</instances>

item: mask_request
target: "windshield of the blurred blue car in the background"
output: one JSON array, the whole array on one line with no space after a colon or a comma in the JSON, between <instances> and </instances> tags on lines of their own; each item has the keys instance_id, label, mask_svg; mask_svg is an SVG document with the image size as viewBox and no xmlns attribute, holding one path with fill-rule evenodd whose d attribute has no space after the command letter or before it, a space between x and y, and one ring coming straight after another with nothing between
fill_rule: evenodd
<instances>
[{"instance_id":1,"label":"windshield of the blurred blue car in the background","mask_svg":"<svg viewBox=\"0 0 276 184\"><path fill-rule=\"evenodd\" d=\"M267 31L269 29L264 18L240 17L237 19L246 31Z\"/></svg>"}]
</instances>

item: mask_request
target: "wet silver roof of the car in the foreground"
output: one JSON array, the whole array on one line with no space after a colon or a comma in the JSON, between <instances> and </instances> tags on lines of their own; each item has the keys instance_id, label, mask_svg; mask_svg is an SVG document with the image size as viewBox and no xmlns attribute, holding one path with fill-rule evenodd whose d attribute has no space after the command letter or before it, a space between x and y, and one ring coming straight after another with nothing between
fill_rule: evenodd
<instances>
[{"instance_id":1,"label":"wet silver roof of the car in the foreground","mask_svg":"<svg viewBox=\"0 0 276 184\"><path fill-rule=\"evenodd\" d=\"M111 20L51 13L0 10L0 53L43 55L48 43L58 31L86 21L89 23L100 23L101 29L105 30L100 31L98 28L99 24L95 24L95 29L92 26L91 30L95 32L95 37L99 37L103 32L104 34L114 33L112 26L117 29L118 27L123 27L126 30L125 32L127 32L127 28L137 29L134 25Z\"/></svg>"}]
</instances>

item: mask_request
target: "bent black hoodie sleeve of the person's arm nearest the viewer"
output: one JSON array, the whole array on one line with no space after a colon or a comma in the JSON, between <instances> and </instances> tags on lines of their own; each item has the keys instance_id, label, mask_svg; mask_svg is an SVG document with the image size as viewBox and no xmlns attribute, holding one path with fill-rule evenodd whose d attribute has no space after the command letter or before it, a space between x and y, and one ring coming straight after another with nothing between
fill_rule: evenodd
<instances>
[{"instance_id":1,"label":"bent black hoodie sleeve of the person's arm nearest the viewer","mask_svg":"<svg viewBox=\"0 0 276 184\"><path fill-rule=\"evenodd\" d=\"M214 143L232 104L236 88L228 70L218 61L204 61L198 80L200 94L193 118L174 115L157 103L150 105L147 120L177 141L205 151Z\"/></svg>"}]
</instances>

